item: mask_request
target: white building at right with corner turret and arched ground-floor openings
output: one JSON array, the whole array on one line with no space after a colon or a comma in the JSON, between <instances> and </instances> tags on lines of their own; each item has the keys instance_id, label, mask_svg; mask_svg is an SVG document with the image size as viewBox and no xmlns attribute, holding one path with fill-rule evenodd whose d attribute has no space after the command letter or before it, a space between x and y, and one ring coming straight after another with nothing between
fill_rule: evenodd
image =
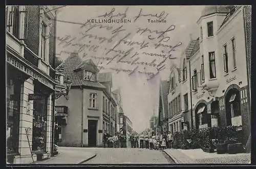
<instances>
[{"instance_id":1,"label":"white building at right with corner turret and arched ground-floor openings","mask_svg":"<svg viewBox=\"0 0 256 169\"><path fill-rule=\"evenodd\" d=\"M243 143L251 131L250 12L247 6L207 6L197 21L200 37L190 41L180 65L184 123L241 127Z\"/></svg>"}]
</instances>

